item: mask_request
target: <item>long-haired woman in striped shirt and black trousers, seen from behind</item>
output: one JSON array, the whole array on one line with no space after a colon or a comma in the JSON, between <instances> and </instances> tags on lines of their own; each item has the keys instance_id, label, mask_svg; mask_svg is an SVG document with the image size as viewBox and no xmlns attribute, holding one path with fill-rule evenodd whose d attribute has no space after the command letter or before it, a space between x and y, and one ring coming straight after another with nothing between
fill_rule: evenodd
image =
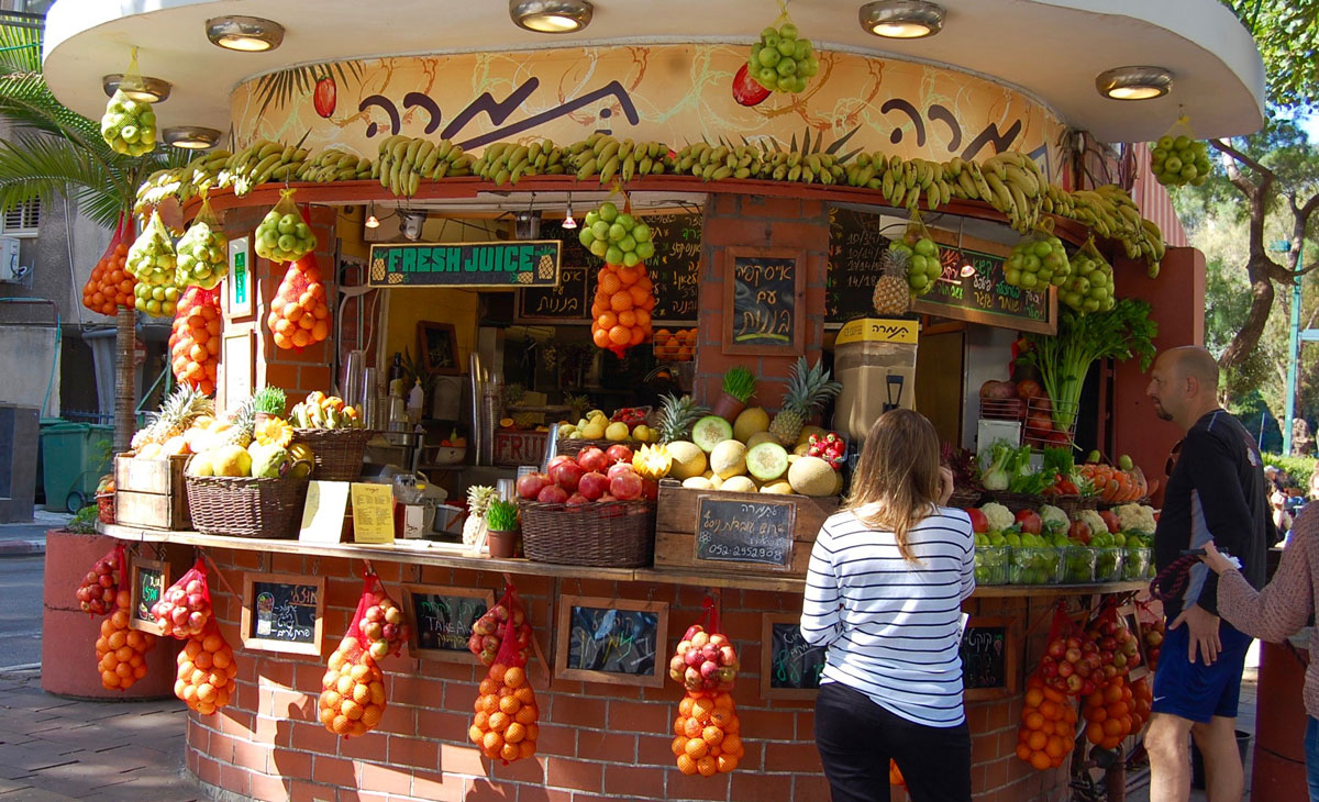
<instances>
[{"instance_id":1,"label":"long-haired woman in striped shirt and black trousers, seen from behind","mask_svg":"<svg viewBox=\"0 0 1319 802\"><path fill-rule=\"evenodd\" d=\"M815 744L834 802L889 802L889 758L913 802L971 799L959 648L975 547L951 495L930 421L886 412L815 538L801 629L828 646Z\"/></svg>"}]
</instances>

